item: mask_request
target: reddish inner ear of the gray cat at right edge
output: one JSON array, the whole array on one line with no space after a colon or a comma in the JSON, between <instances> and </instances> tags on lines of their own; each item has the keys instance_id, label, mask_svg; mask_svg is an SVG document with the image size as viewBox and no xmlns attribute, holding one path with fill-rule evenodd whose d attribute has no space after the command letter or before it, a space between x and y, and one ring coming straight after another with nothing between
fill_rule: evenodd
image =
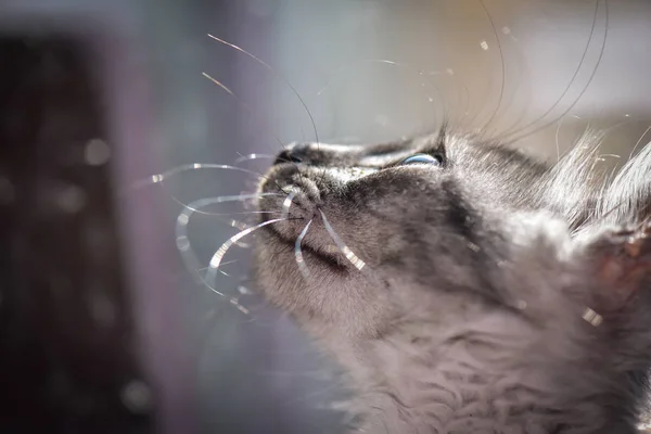
<instances>
[{"instance_id":1,"label":"reddish inner ear of the gray cat at right edge","mask_svg":"<svg viewBox=\"0 0 651 434\"><path fill-rule=\"evenodd\" d=\"M601 311L624 308L639 291L651 291L651 221L631 230L602 233L588 248L593 273L603 282Z\"/></svg>"}]
</instances>

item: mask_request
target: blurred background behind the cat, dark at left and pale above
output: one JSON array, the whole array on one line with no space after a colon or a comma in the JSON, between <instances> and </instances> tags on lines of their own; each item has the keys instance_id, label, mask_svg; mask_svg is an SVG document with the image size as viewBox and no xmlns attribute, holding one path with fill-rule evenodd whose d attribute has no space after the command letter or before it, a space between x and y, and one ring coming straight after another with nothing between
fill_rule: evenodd
<instances>
[{"instance_id":1,"label":"blurred background behind the cat, dark at left and pale above","mask_svg":"<svg viewBox=\"0 0 651 434\"><path fill-rule=\"evenodd\" d=\"M248 282L255 237L225 296L197 279L246 206L178 224L256 175L180 169L444 119L549 161L604 130L621 164L651 137L650 24L644 0L3 1L2 432L340 433L336 369Z\"/></svg>"}]
</instances>

